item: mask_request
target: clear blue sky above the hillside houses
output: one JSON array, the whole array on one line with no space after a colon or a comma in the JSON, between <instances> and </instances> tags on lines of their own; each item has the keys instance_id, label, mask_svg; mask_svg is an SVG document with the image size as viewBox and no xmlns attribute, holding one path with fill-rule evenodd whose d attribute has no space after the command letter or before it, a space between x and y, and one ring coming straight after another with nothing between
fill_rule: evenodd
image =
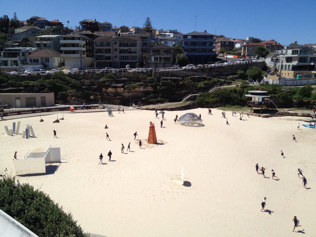
<instances>
[{"instance_id":1,"label":"clear blue sky above the hillside houses","mask_svg":"<svg viewBox=\"0 0 316 237\"><path fill-rule=\"evenodd\" d=\"M143 27L149 17L154 28L174 28L181 33L190 33L196 27L198 32L206 30L228 38L250 36L283 45L295 40L299 44L316 43L315 1L311 0L0 0L0 6L0 16L11 19L16 12L19 20L40 16L49 21L58 19L65 26L70 21L72 28L83 19L108 21L117 27Z\"/></svg>"}]
</instances>

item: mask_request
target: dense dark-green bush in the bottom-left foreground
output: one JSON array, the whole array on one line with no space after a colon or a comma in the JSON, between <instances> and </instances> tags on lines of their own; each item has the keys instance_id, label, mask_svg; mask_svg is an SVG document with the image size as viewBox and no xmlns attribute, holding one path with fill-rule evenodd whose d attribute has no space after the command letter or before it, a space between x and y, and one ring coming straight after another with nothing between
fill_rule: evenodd
<instances>
[{"instance_id":1,"label":"dense dark-green bush in the bottom-left foreground","mask_svg":"<svg viewBox=\"0 0 316 237\"><path fill-rule=\"evenodd\" d=\"M0 179L0 209L38 236L90 236L48 195L15 178Z\"/></svg>"}]
</instances>

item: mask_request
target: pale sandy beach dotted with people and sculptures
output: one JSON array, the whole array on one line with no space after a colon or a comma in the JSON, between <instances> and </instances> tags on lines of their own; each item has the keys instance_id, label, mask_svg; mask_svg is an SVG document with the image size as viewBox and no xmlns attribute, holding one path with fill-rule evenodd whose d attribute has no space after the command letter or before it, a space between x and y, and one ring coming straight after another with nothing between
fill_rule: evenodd
<instances>
[{"instance_id":1,"label":"pale sandy beach dotted with people and sculptures","mask_svg":"<svg viewBox=\"0 0 316 237\"><path fill-rule=\"evenodd\" d=\"M64 114L2 121L0 169L14 172L14 152L23 158L30 149L60 147L62 163L55 173L18 177L46 192L71 212L84 231L106 236L289 236L293 216L314 236L315 130L300 117L259 118L207 109L165 114L164 128L154 111ZM174 124L175 114L201 113L203 127ZM59 115L58 118L62 116ZM161 114L159 114L161 118ZM3 126L21 121L32 125L36 138L7 136ZM160 145L146 143L149 122L155 122ZM105 125L109 129L104 129ZM53 130L57 131L57 139ZM137 139L143 141L139 149ZM106 140L108 132L111 141ZM295 135L297 143L292 141ZM131 151L127 145L131 142ZM121 143L125 154L120 152ZM107 153L112 151L112 162ZM280 155L283 150L285 158ZM106 165L98 165L103 153ZM256 163L266 168L264 178ZM55 164L56 165L56 164ZM181 184L181 168L191 186ZM297 168L303 170L303 189ZM274 169L279 181L272 180ZM260 212L261 200L266 209Z\"/></svg>"}]
</instances>

